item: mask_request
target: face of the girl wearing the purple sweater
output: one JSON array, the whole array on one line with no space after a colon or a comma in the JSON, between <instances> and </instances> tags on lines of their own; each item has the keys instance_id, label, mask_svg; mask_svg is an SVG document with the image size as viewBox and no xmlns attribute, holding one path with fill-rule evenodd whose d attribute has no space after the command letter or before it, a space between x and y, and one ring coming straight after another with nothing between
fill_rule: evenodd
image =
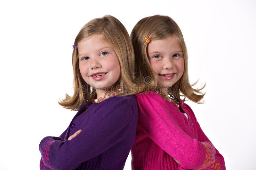
<instances>
[{"instance_id":1,"label":"face of the girl wearing the purple sweater","mask_svg":"<svg viewBox=\"0 0 256 170\"><path fill-rule=\"evenodd\" d=\"M106 92L106 87L114 85L121 74L114 49L99 35L80 41L77 49L79 70L84 81L95 87L96 92Z\"/></svg>"}]
</instances>

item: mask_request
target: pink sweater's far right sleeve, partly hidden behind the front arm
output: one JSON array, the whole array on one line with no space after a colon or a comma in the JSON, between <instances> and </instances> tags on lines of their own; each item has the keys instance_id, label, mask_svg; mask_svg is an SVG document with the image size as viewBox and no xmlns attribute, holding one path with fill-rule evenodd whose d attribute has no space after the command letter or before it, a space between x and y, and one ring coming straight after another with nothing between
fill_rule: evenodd
<instances>
[{"instance_id":1,"label":"pink sweater's far right sleeve, partly hidden behind the front arm","mask_svg":"<svg viewBox=\"0 0 256 170\"><path fill-rule=\"evenodd\" d=\"M209 142L211 141L208 139L208 137L204 134L203 130L201 129L200 125L198 122L197 123L197 128L198 128L198 140L201 142ZM220 152L215 149L216 154L215 154L215 162L208 166L206 169L207 170L225 170L225 162L223 156L220 154Z\"/></svg>"}]
</instances>

